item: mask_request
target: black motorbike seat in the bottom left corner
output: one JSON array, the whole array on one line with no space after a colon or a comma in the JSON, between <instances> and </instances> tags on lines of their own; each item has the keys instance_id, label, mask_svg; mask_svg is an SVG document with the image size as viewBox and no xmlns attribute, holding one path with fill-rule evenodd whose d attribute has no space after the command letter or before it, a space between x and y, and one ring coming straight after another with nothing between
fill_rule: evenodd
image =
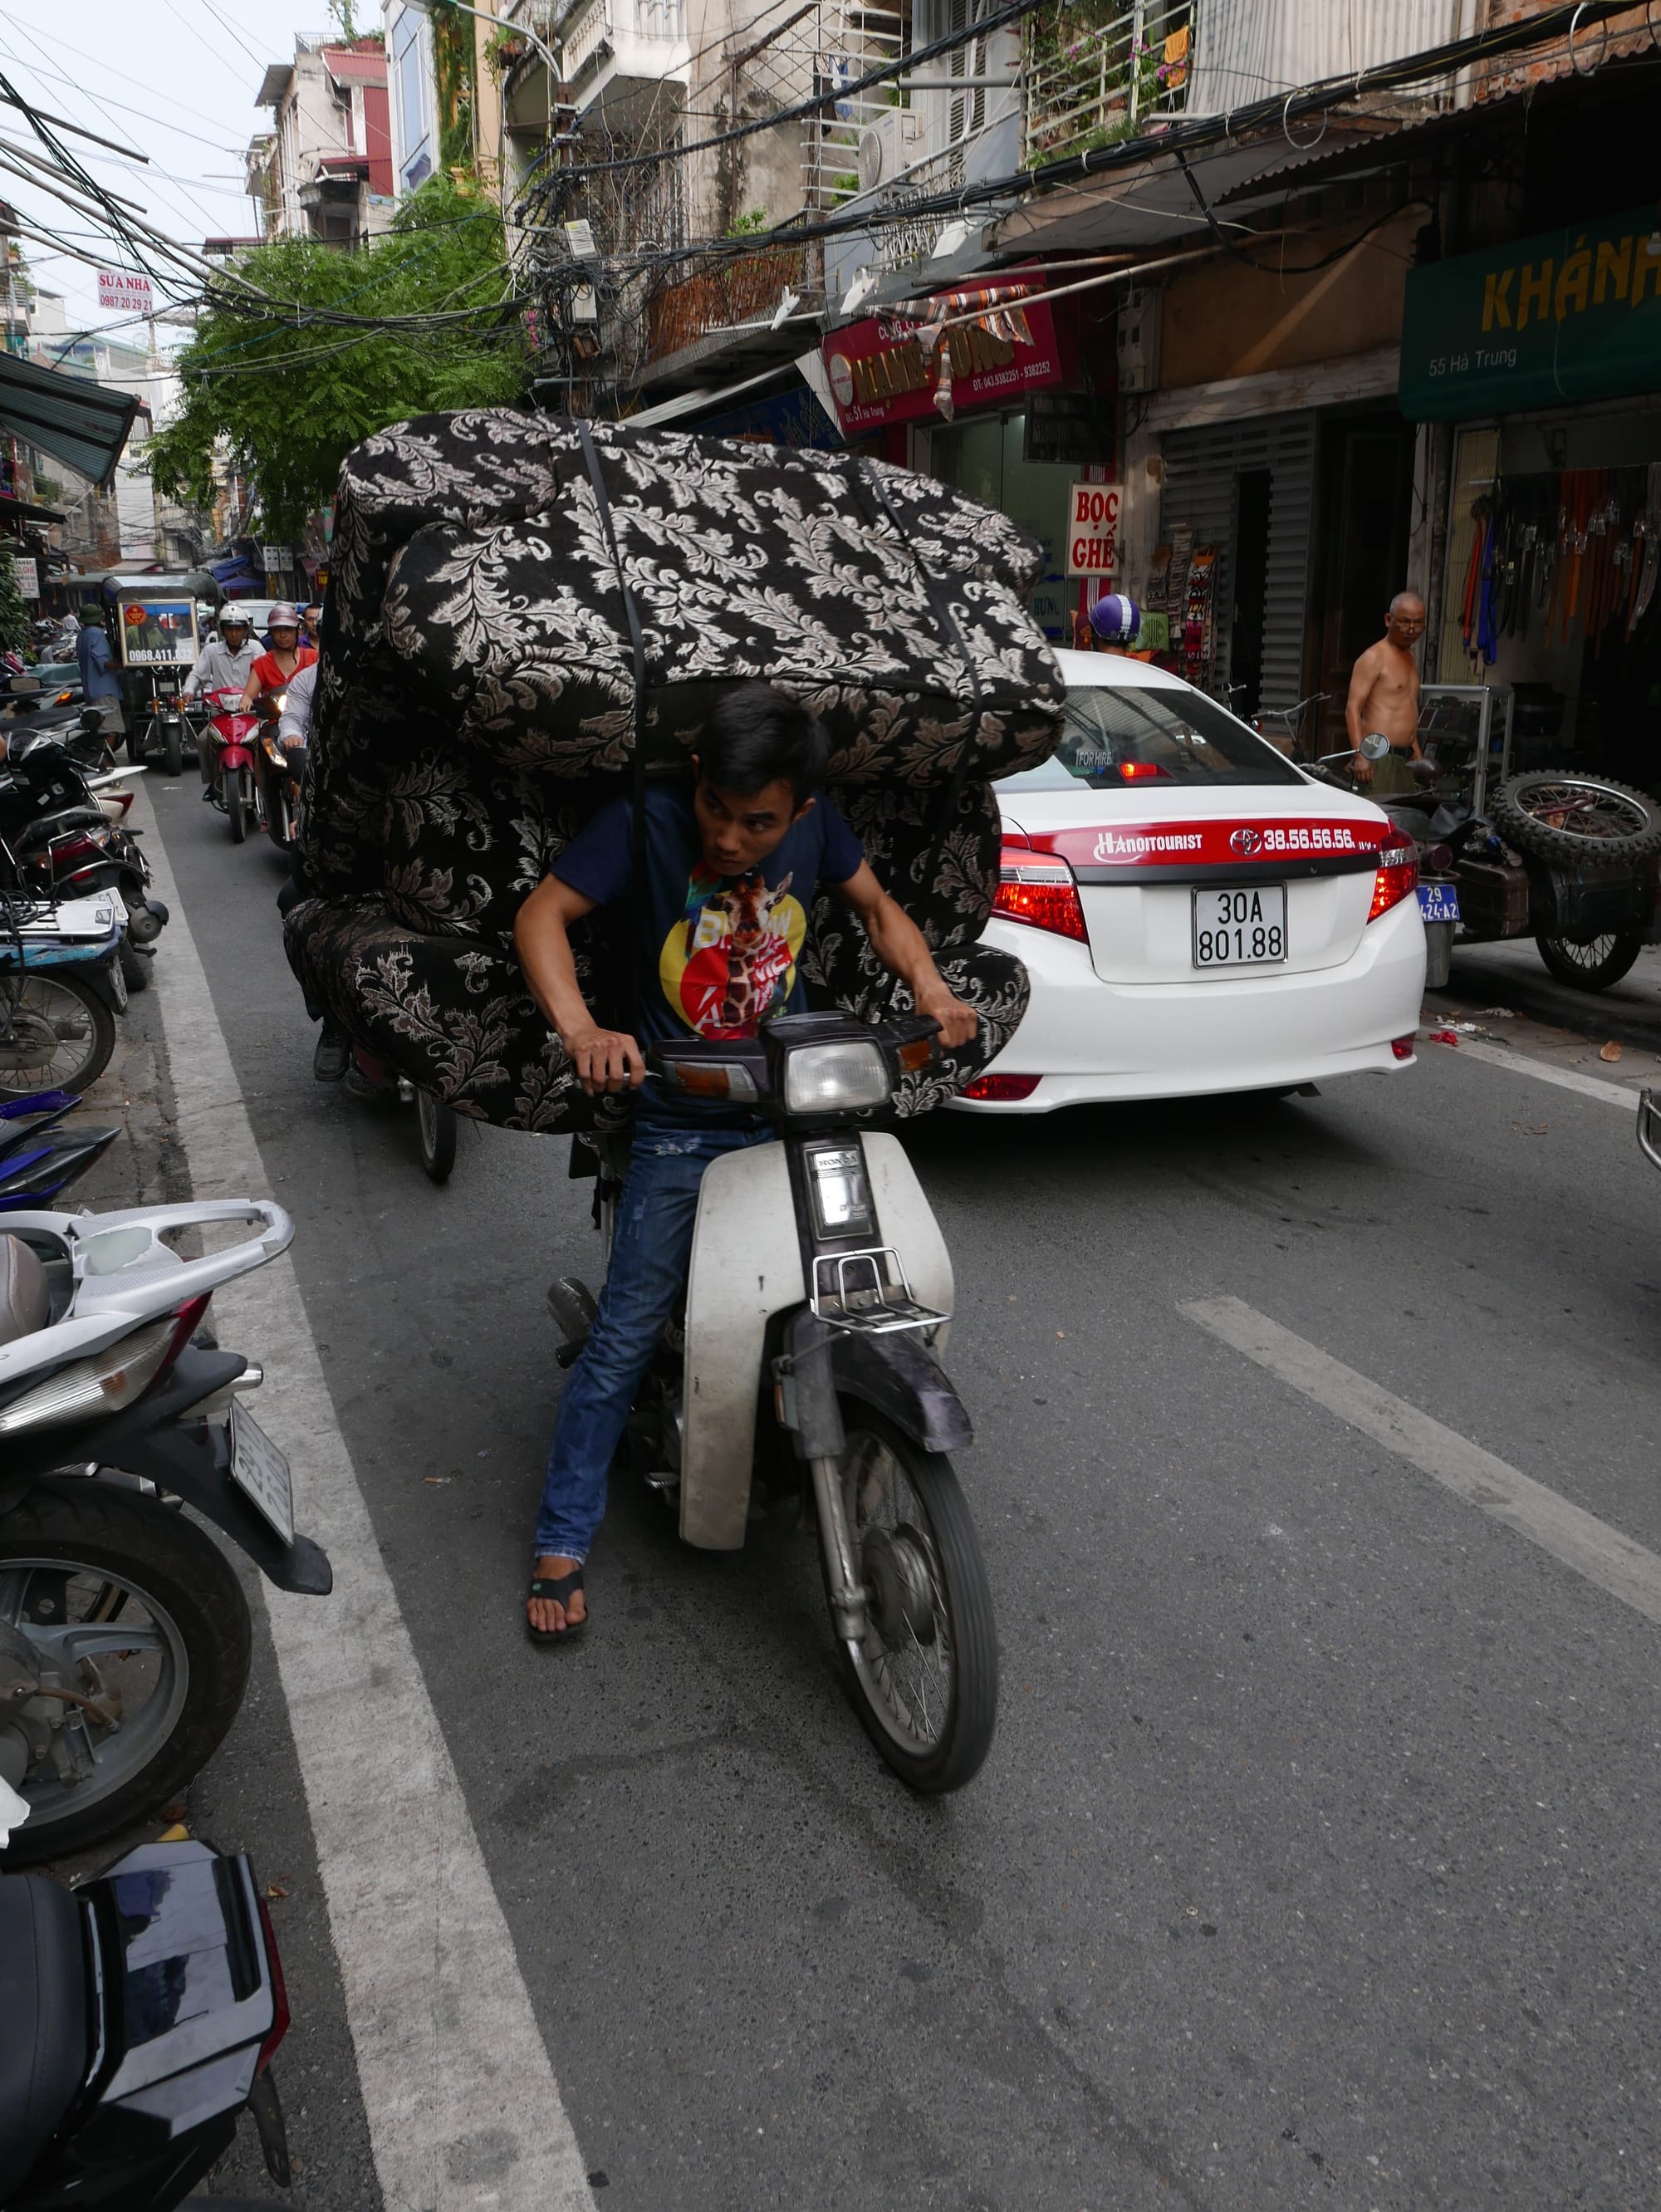
<instances>
[{"instance_id":1,"label":"black motorbike seat in the bottom left corner","mask_svg":"<svg viewBox=\"0 0 1661 2212\"><path fill-rule=\"evenodd\" d=\"M86 1942L44 1874L0 1878L0 2203L29 2179L86 2079Z\"/></svg>"}]
</instances>

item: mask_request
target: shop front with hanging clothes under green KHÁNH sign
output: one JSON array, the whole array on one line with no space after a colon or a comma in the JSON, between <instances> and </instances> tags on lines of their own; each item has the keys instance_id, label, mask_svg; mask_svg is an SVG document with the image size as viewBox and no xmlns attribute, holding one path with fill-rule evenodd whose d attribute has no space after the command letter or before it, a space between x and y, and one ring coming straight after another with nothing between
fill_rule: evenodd
<instances>
[{"instance_id":1,"label":"shop front with hanging clothes under green KH\u00c1NH sign","mask_svg":"<svg viewBox=\"0 0 1661 2212\"><path fill-rule=\"evenodd\" d=\"M1431 672L1513 690L1513 768L1661 790L1654 206L1415 270L1402 411L1449 422Z\"/></svg>"}]
</instances>

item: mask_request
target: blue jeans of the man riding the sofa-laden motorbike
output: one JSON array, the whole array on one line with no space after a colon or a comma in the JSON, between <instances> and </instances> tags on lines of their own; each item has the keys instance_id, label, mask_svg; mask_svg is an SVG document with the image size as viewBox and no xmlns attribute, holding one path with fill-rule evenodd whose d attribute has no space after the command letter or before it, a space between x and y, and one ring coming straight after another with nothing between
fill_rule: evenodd
<instances>
[{"instance_id":1,"label":"blue jeans of the man riding the sofa-laden motorbike","mask_svg":"<svg viewBox=\"0 0 1661 2212\"><path fill-rule=\"evenodd\" d=\"M723 1152L770 1139L770 1128L637 1121L599 1312L553 1427L537 1511L537 1557L588 1557L606 1513L606 1471L624 1440L628 1409L686 1287L703 1170Z\"/></svg>"}]
</instances>

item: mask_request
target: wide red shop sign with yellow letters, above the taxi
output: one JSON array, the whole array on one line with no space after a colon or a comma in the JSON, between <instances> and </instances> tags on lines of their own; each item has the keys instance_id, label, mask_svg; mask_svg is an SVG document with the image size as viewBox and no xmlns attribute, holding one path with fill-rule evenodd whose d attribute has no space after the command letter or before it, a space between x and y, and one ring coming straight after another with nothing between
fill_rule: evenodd
<instances>
[{"instance_id":1,"label":"wide red shop sign with yellow letters, above the taxi","mask_svg":"<svg viewBox=\"0 0 1661 2212\"><path fill-rule=\"evenodd\" d=\"M1022 310L1031 345L995 336L978 323L958 323L944 334L951 347L951 400L958 414L971 407L1000 407L1017 392L1042 392L1066 380L1048 303L1013 299L1011 305ZM823 352L836 414L847 436L936 414L938 367L933 354L924 358L916 321L874 314L834 330Z\"/></svg>"}]
</instances>

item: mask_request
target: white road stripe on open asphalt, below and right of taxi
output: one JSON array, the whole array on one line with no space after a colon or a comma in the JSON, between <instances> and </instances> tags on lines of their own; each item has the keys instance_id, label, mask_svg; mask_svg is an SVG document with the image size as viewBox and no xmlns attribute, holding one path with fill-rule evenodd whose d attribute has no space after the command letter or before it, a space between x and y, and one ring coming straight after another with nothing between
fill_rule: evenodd
<instances>
[{"instance_id":1,"label":"white road stripe on open asphalt, below and right of taxi","mask_svg":"<svg viewBox=\"0 0 1661 2212\"><path fill-rule=\"evenodd\" d=\"M1444 1429L1440 1420L1380 1389L1307 1338L1283 1329L1243 1298L1192 1298L1179 1305L1179 1312L1243 1352L1247 1360L1267 1367L1305 1398L1314 1398L1351 1429L1360 1429L1376 1444L1418 1467L1455 1498L1526 1535L1531 1544L1539 1544L1564 1566L1573 1566L1577 1575L1586 1575L1610 1597L1632 1606L1646 1621L1661 1621L1661 1557L1634 1544L1630 1535L1573 1506L1533 1475L1495 1460L1455 1429Z\"/></svg>"}]
</instances>

